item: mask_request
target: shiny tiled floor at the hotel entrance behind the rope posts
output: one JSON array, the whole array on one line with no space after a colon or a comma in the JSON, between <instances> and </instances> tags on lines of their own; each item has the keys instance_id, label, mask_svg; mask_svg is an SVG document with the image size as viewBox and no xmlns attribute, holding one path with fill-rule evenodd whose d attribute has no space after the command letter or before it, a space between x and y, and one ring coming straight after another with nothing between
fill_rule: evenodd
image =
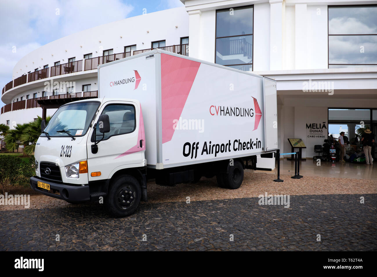
<instances>
[{"instance_id":1,"label":"shiny tiled floor at the hotel entrance behind the rope posts","mask_svg":"<svg viewBox=\"0 0 377 277\"><path fill-rule=\"evenodd\" d=\"M265 171L268 173L268 171ZM277 164L275 173L277 172ZM287 159L280 160L280 174L294 174L294 161ZM372 179L377 180L377 161L374 165L353 164L349 162L322 162L318 166L313 159L300 161L300 175L352 178L352 179Z\"/></svg>"}]
</instances>

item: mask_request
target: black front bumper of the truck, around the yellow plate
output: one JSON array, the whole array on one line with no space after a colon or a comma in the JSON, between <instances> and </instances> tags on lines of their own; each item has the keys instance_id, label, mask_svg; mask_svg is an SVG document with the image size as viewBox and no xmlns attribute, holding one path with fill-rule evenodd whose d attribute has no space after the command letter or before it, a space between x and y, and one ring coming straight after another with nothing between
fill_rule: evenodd
<instances>
[{"instance_id":1,"label":"black front bumper of the truck, around the yellow plate","mask_svg":"<svg viewBox=\"0 0 377 277\"><path fill-rule=\"evenodd\" d=\"M50 185L50 190L45 190L38 187L38 181ZM30 178L30 186L38 193L47 196L55 197L72 203L86 202L90 200L89 186L73 186L68 184L58 184L50 181L45 181L37 176Z\"/></svg>"}]
</instances>

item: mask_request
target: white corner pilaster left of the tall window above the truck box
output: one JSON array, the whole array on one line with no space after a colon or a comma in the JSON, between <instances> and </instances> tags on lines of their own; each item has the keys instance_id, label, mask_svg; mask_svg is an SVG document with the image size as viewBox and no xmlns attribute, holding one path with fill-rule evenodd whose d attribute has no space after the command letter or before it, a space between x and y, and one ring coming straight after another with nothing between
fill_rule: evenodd
<instances>
[{"instance_id":1,"label":"white corner pilaster left of the tall window above the truck box","mask_svg":"<svg viewBox=\"0 0 377 277\"><path fill-rule=\"evenodd\" d=\"M201 47L201 32L200 32L200 20L201 11L193 10L189 13L189 57L200 58Z\"/></svg>"}]
</instances>

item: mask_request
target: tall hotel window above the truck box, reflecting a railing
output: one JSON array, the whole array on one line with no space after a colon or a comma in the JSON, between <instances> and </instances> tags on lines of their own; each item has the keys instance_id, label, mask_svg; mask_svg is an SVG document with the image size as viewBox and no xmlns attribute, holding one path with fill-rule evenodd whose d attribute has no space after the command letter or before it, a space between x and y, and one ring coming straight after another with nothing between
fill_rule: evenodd
<instances>
[{"instance_id":1,"label":"tall hotel window above the truck box, reflecting a railing","mask_svg":"<svg viewBox=\"0 0 377 277\"><path fill-rule=\"evenodd\" d=\"M253 70L253 6L216 10L215 63Z\"/></svg>"}]
</instances>

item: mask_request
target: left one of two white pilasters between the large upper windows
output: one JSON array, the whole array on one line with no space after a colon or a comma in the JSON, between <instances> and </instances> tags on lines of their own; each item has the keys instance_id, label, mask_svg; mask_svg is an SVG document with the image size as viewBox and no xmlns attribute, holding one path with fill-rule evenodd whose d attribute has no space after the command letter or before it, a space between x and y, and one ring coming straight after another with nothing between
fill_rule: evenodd
<instances>
[{"instance_id":1,"label":"left one of two white pilasters between the large upper windows","mask_svg":"<svg viewBox=\"0 0 377 277\"><path fill-rule=\"evenodd\" d=\"M283 1L270 0L270 70L282 70L283 61Z\"/></svg>"}]
</instances>

